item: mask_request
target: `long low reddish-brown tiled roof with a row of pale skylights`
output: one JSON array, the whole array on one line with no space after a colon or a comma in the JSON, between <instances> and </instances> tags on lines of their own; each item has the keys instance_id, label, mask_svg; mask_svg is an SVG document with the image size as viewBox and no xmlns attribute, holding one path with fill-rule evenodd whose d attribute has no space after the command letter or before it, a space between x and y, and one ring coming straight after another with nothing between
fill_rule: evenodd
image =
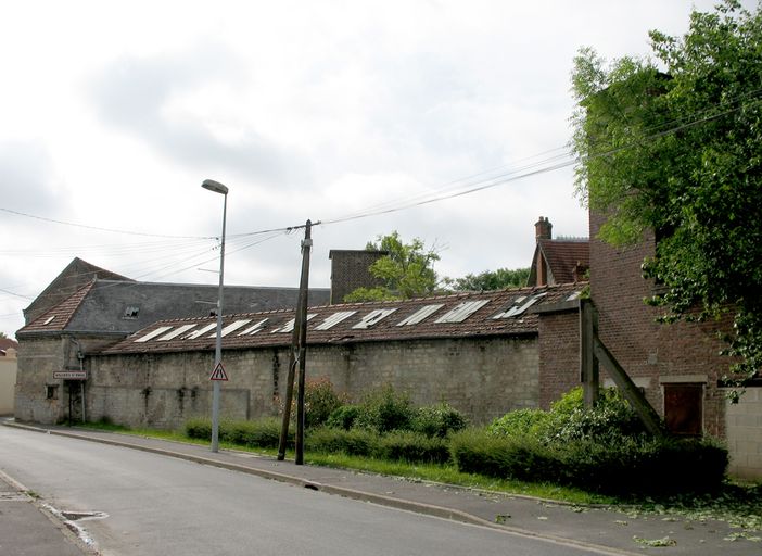
<instances>
[{"instance_id":1,"label":"long low reddish-brown tiled roof with a row of pale skylights","mask_svg":"<svg viewBox=\"0 0 762 556\"><path fill-rule=\"evenodd\" d=\"M396 302L346 303L310 307L308 344L346 344L439 338L536 334L535 307L576 299L584 283L458 293ZM468 309L473 309L469 312ZM460 313L457 311L460 309ZM386 316L368 323L369 317ZM503 318L495 318L503 315ZM342 319L342 317L344 317ZM449 317L449 318L447 318ZM460 318L462 317L462 318ZM223 348L256 349L291 343L294 311L225 315ZM213 350L216 319L187 318L155 323L104 354L169 353ZM331 323L334 323L332 326ZM227 329L227 332L226 332Z\"/></svg>"}]
</instances>

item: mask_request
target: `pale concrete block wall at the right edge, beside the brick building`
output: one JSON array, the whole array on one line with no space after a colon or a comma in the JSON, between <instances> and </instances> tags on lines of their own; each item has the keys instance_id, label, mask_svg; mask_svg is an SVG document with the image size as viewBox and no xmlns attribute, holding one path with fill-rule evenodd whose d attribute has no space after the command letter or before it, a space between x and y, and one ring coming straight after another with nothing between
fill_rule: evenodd
<instances>
[{"instance_id":1,"label":"pale concrete block wall at the right edge, beside the brick building","mask_svg":"<svg viewBox=\"0 0 762 556\"><path fill-rule=\"evenodd\" d=\"M749 388L737 404L726 402L729 471L744 479L762 478L762 388Z\"/></svg>"}]
</instances>

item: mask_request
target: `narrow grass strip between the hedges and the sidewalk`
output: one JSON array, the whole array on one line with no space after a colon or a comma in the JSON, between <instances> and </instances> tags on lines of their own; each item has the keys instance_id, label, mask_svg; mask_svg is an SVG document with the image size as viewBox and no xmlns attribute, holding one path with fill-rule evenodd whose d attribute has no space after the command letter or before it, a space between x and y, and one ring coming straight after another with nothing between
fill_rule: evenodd
<instances>
[{"instance_id":1,"label":"narrow grass strip between the hedges and the sidewalk","mask_svg":"<svg viewBox=\"0 0 762 556\"><path fill-rule=\"evenodd\" d=\"M82 428L172 440L189 444L208 444L208 441L189 439L180 431L128 428L109 422L86 424ZM277 455L276 450L253 450L226 442L220 442L219 445L226 450L237 450L274 457ZM287 457L293 458L293 454L289 453ZM453 465L407 464L405 462L389 462L335 453L322 454L310 452L305 453L304 459L307 465L353 469L401 477L412 481L431 481L497 493L534 496L573 505L599 504L618 507L618 509L624 507L632 517L662 515L681 517L682 519L695 522L708 520L724 521L738 530L734 533L736 538L757 542L762 541L759 535L759 533L762 532L762 483L745 484L728 481L721 492L712 493L711 495L696 496L688 494L662 501L632 501L550 483L531 483L508 479L497 480L475 473L462 473Z\"/></svg>"}]
</instances>

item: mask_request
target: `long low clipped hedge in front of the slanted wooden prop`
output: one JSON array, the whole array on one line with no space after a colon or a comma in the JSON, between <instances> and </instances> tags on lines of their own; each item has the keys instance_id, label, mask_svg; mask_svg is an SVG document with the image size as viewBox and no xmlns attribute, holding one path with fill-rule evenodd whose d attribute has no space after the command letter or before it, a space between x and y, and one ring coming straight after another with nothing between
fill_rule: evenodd
<instances>
[{"instance_id":1,"label":"long low clipped hedge in front of the slanted wooden prop","mask_svg":"<svg viewBox=\"0 0 762 556\"><path fill-rule=\"evenodd\" d=\"M530 434L466 431L452 437L450 453L463 472L636 496L712 491L728 463L727 450L710 439L643 435L548 444Z\"/></svg>"}]
</instances>

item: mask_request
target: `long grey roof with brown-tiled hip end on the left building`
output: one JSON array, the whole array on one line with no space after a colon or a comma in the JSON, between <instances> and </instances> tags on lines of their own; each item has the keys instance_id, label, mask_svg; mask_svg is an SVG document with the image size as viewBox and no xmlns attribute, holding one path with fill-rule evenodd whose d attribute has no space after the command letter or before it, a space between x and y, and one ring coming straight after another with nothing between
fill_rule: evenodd
<instances>
[{"instance_id":1,"label":"long grey roof with brown-tiled hip end on the left building","mask_svg":"<svg viewBox=\"0 0 762 556\"><path fill-rule=\"evenodd\" d=\"M217 286L94 280L16 332L128 334L167 318L203 318L216 308ZM295 307L297 288L226 286L223 313ZM328 303L328 288L309 290L309 301Z\"/></svg>"}]
</instances>

